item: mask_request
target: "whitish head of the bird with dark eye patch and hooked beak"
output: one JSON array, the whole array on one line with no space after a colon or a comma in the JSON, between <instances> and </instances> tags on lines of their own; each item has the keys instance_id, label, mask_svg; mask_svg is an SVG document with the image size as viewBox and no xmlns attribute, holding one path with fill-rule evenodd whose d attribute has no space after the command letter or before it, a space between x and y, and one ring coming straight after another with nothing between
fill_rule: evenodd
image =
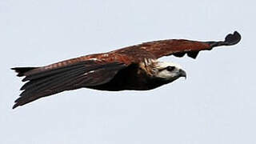
<instances>
[{"instance_id":1,"label":"whitish head of the bird with dark eye patch and hooked beak","mask_svg":"<svg viewBox=\"0 0 256 144\"><path fill-rule=\"evenodd\" d=\"M173 82L180 77L186 78L186 72L182 70L182 66L172 62L158 62L155 68L157 72L154 76L167 82Z\"/></svg>"}]
</instances>

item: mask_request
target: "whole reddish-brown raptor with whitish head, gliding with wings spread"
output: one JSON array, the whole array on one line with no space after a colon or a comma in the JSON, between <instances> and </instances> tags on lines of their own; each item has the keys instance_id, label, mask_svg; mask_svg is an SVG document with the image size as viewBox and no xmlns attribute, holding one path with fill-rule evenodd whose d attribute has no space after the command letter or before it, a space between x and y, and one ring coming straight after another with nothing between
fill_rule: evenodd
<instances>
[{"instance_id":1,"label":"whole reddish-brown raptor with whitish head, gliding with wings spread","mask_svg":"<svg viewBox=\"0 0 256 144\"><path fill-rule=\"evenodd\" d=\"M14 67L18 77L26 82L17 106L33 102L66 90L90 88L94 90L152 90L174 80L186 77L182 67L158 58L185 54L196 58L201 50L217 46L231 46L241 40L235 31L224 41L198 42L186 39L168 39L145 42L102 54L90 54L41 67Z\"/></svg>"}]
</instances>

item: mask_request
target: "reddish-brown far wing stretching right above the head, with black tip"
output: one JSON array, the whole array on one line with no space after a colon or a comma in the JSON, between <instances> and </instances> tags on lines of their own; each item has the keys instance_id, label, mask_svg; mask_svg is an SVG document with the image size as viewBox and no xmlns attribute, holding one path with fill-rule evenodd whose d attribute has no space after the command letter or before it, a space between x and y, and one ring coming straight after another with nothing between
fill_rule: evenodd
<instances>
[{"instance_id":1,"label":"reddish-brown far wing stretching right above the head, with black tip","mask_svg":"<svg viewBox=\"0 0 256 144\"><path fill-rule=\"evenodd\" d=\"M219 42L198 42L185 39L169 39L154 42L145 42L137 46L130 46L120 51L130 50L146 50L153 54L155 58L161 58L173 54L176 57L182 57L187 54L190 58L196 58L199 51L211 50L216 46L231 46L237 44L241 40L241 35L235 31L234 34L228 34L225 41Z\"/></svg>"}]
</instances>

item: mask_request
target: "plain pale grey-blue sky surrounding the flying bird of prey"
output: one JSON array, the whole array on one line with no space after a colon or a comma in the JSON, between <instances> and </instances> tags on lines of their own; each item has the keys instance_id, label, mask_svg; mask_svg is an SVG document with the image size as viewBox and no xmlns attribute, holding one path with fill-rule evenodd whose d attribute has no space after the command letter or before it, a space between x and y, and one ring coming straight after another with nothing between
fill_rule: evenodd
<instances>
[{"instance_id":1,"label":"plain pale grey-blue sky surrounding the flying bird of prey","mask_svg":"<svg viewBox=\"0 0 256 144\"><path fill-rule=\"evenodd\" d=\"M0 143L256 143L254 1L1 0ZM168 38L222 40L181 64L188 78L150 91L81 89L12 110L21 78L44 66Z\"/></svg>"}]
</instances>

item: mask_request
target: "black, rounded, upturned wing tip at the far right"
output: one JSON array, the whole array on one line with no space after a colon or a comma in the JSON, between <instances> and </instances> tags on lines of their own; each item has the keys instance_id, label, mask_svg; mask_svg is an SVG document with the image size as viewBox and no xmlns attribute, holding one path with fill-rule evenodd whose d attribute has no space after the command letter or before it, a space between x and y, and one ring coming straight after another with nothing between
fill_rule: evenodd
<instances>
[{"instance_id":1,"label":"black, rounded, upturned wing tip at the far right","mask_svg":"<svg viewBox=\"0 0 256 144\"><path fill-rule=\"evenodd\" d=\"M226 35L225 41L220 41L220 42L206 42L210 44L210 46L213 48L215 46L231 46L235 45L241 40L241 35L237 32L234 31L234 34L228 34Z\"/></svg>"}]
</instances>

